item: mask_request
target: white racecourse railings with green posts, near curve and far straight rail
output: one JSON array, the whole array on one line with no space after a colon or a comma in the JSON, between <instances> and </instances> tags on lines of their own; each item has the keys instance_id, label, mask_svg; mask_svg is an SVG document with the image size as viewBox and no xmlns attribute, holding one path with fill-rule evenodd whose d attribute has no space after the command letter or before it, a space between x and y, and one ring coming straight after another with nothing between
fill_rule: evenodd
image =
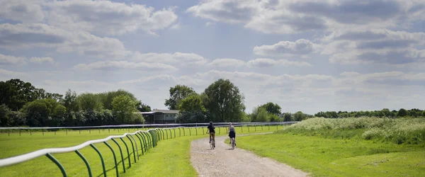
<instances>
[{"instance_id":1,"label":"white racecourse railings with green posts, near curve and far straight rail","mask_svg":"<svg viewBox=\"0 0 425 177\"><path fill-rule=\"evenodd\" d=\"M235 127L241 127L242 132L244 130L244 127L246 127L247 132L250 132L249 127L254 127L254 132L256 132L256 127L258 127L258 126L260 126L261 129L263 129L263 127L268 127L268 130L271 130L271 127L276 125L276 130L277 130L279 125L290 125L290 124L293 124L293 123L297 123L297 122L249 122L249 123L235 122L235 123L232 123L232 124ZM220 127L227 127L228 126L227 122L217 122L217 123L214 123L214 124L215 124L215 127L219 127L219 129L218 129L219 131L221 130ZM142 155L143 155L143 154L145 154L145 152L147 152L148 149L156 147L157 142L159 142L160 140L162 140L162 139L172 139L173 137L176 138L176 130L179 130L179 137L181 137L181 130L183 130L183 136L186 136L185 128L189 129L189 136L192 136L191 130L195 129L196 135L198 135L198 129L202 128L203 135L204 135L205 134L204 128L206 127L205 125L208 125L208 123L167 124L167 125L163 125L163 124L161 124L161 125L159 125L159 124L151 124L151 125L105 125L105 126L91 126L91 127L0 127L0 130L37 130L37 129L42 129L42 130L59 130L59 129L79 130L79 129L91 129L91 128L95 128L95 129L109 128L109 129L111 129L111 128L128 128L128 127L156 127L154 129L150 129L150 130L147 130L147 131L137 130L136 132L125 133L124 135L120 135L120 136L109 136L109 137L106 137L104 139L90 140L88 142L84 142L83 144L79 144L79 145L74 146L74 147L40 149L38 151L30 152L28 154L22 154L22 155L19 155L19 156L13 156L13 157L6 158L6 159L0 159L0 167L11 166L13 164L20 164L20 163L23 163L25 161L35 159L39 156L47 156L47 158L49 158L53 163L55 163L57 165L57 167L59 167L60 171L62 172L62 175L67 176L67 172L65 171L62 164L60 164L60 161L55 159L55 157L52 154L75 152L76 154L78 154L78 156L81 158L81 160L84 161L84 164L86 164L87 170L89 172L89 176L92 176L91 167L90 167L89 162L86 160L86 158L83 156L83 154L81 154L79 152L79 149L83 149L84 147L90 146L98 153L99 158L101 159L101 163L102 163L103 176L106 177L106 167L105 167L105 162L103 161L103 156L102 156L101 152L94 145L94 144L98 144L98 143L103 143L103 144L106 144L106 146L109 149L111 149L111 152L113 154L114 163L115 163L115 166L114 166L115 173L116 173L116 176L119 176L119 172L118 172L118 168L119 168L118 164L119 163L117 163L117 157L115 156L115 151L113 150L111 145L108 144L108 142L107 142L108 140L112 140L118 146L120 156L121 156L121 161L123 163L123 171L125 173L125 161L124 161L123 153L127 152L128 164L129 164L129 166L131 166L131 156L130 156L131 150L132 150L131 154L133 154L134 162L136 162L136 154L137 154L137 160L139 159L139 156L140 156L139 150L141 150ZM165 126L167 126L167 127L165 127ZM163 127L163 128L158 128L158 127ZM173 132L174 132L174 136L173 136ZM131 149L129 148L128 144L124 141L123 138L125 138L125 137L127 137L128 140L130 140L131 147L132 147ZM138 142L139 142L140 146L138 146L137 140L135 139L135 137L139 140ZM120 141L122 141L125 144L125 149L121 148L120 144L118 144L118 142L117 142L117 139L119 139Z\"/></svg>"}]
</instances>

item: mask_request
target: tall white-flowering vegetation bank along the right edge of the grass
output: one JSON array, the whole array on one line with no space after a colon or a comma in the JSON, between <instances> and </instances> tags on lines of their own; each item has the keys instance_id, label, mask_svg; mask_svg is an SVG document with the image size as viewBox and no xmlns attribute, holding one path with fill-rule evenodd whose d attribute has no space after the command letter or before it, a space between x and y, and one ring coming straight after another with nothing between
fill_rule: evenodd
<instances>
[{"instance_id":1,"label":"tall white-flowering vegetation bank along the right edge of the grass","mask_svg":"<svg viewBox=\"0 0 425 177\"><path fill-rule=\"evenodd\" d=\"M335 130L358 130L361 134L359 137L363 139L382 139L397 144L425 143L424 118L310 118L285 127L283 132L314 133Z\"/></svg>"}]
</instances>

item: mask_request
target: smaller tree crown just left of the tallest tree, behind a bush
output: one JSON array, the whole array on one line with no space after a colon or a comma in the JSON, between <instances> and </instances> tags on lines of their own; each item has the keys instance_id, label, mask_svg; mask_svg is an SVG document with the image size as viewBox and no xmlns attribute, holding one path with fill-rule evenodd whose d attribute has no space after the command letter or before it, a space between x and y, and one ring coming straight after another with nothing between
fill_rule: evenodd
<instances>
[{"instance_id":1,"label":"smaller tree crown just left of the tallest tree, behind a bush","mask_svg":"<svg viewBox=\"0 0 425 177\"><path fill-rule=\"evenodd\" d=\"M171 87L170 90L170 98L165 100L164 105L168 106L170 110L176 110L179 108L180 102L191 95L192 93L196 93L191 87L184 85L176 85Z\"/></svg>"}]
</instances>

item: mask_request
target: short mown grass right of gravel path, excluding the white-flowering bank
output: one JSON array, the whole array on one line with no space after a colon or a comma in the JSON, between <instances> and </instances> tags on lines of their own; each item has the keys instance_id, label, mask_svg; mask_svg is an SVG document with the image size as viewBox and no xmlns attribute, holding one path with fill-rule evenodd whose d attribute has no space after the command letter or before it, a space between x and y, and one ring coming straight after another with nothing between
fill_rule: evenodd
<instances>
[{"instance_id":1,"label":"short mown grass right of gravel path, excluding the white-flowering bank","mask_svg":"<svg viewBox=\"0 0 425 177\"><path fill-rule=\"evenodd\" d=\"M358 137L364 130L281 131L237 138L237 147L276 159L312 176L423 176L424 144Z\"/></svg>"}]
</instances>

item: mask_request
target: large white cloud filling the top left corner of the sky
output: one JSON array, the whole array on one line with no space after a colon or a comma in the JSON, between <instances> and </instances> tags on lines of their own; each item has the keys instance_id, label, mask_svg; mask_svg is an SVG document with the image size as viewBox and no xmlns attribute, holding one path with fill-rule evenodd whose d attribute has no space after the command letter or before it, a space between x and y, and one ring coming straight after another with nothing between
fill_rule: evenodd
<instances>
[{"instance_id":1,"label":"large white cloud filling the top left corner of the sky","mask_svg":"<svg viewBox=\"0 0 425 177\"><path fill-rule=\"evenodd\" d=\"M140 4L113 1L0 1L0 18L24 23L45 23L101 35L122 35L136 30L154 33L177 19L175 7L155 10Z\"/></svg>"}]
</instances>

